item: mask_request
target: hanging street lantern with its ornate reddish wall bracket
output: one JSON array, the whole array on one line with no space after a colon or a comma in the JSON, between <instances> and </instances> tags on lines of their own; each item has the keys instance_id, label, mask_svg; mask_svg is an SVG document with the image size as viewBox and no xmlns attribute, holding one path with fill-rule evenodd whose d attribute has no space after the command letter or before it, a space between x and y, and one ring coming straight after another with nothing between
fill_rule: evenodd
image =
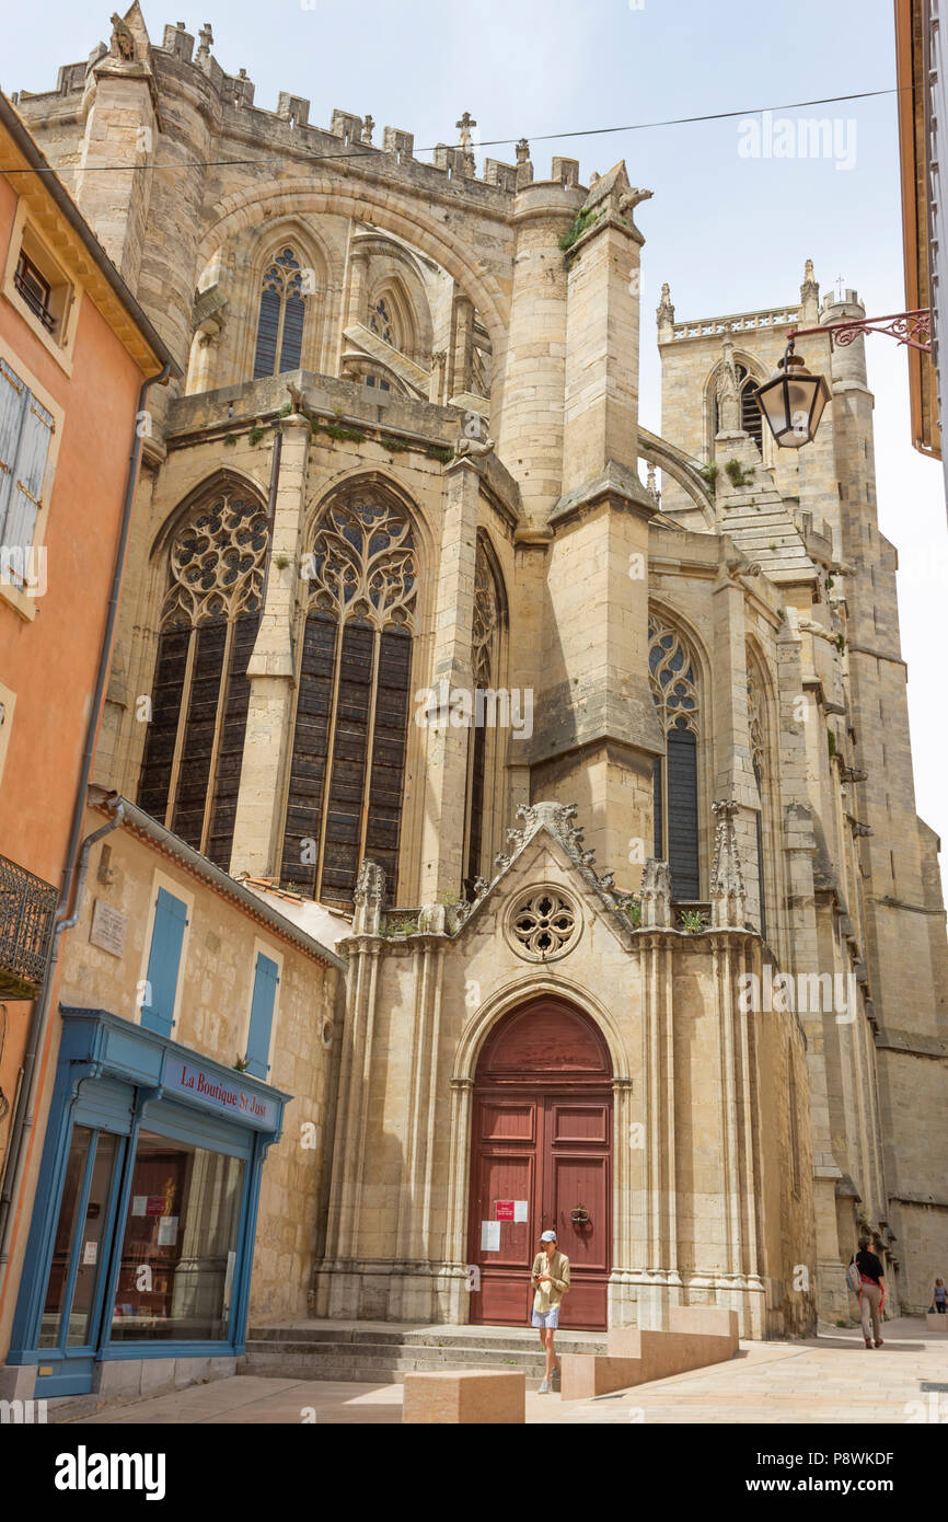
<instances>
[{"instance_id":1,"label":"hanging street lantern with its ornate reddish wall bracket","mask_svg":"<svg viewBox=\"0 0 948 1522\"><path fill-rule=\"evenodd\" d=\"M755 391L758 406L767 419L767 426L782 449L802 449L811 444L826 402L829 387L825 376L814 376L803 361L794 355L796 338L820 333L829 338L829 345L851 344L860 333L886 333L899 344L931 353L931 312L921 307L913 312L892 312L889 317L846 318L841 323L822 323L819 327L797 327L787 333L787 352L776 374Z\"/></svg>"}]
</instances>

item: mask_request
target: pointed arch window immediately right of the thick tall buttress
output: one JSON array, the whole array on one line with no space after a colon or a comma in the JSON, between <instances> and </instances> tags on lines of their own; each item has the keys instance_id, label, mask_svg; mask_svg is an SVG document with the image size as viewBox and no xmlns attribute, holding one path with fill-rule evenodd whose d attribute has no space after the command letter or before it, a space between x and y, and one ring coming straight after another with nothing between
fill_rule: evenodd
<instances>
[{"instance_id":1,"label":"pointed arch window immediately right of the thick tall buttress","mask_svg":"<svg viewBox=\"0 0 948 1522\"><path fill-rule=\"evenodd\" d=\"M697 661L683 635L657 616L648 621L648 677L665 755L656 756L654 855L668 861L677 900L700 898Z\"/></svg>"}]
</instances>

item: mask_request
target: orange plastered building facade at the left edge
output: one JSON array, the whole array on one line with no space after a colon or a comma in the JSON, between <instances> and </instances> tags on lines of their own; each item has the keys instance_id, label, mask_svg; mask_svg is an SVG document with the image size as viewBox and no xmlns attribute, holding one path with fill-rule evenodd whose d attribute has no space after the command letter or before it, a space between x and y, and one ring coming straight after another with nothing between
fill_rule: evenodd
<instances>
[{"instance_id":1,"label":"orange plastered building facade at the left edge","mask_svg":"<svg viewBox=\"0 0 948 1522\"><path fill-rule=\"evenodd\" d=\"M148 384L173 365L3 96L0 163L2 1356L49 1087L53 925L75 886Z\"/></svg>"}]
</instances>

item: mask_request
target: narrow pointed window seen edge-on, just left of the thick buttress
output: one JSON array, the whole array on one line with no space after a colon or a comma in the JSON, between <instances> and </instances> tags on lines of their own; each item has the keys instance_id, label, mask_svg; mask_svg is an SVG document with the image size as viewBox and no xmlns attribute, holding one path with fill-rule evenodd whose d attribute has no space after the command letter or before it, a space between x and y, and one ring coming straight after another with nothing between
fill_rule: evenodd
<instances>
[{"instance_id":1,"label":"narrow pointed window seen edge-on, just left of the thick buttress","mask_svg":"<svg viewBox=\"0 0 948 1522\"><path fill-rule=\"evenodd\" d=\"M493 551L482 533L478 534L475 559L475 595L470 668L475 691L496 691L501 670L501 638L507 601ZM484 703L484 717L488 712ZM476 709L475 709L476 712ZM499 766L501 731L496 726L473 724L467 753L467 843L464 851L464 892L473 895L475 878L484 872L487 828L495 776Z\"/></svg>"}]
</instances>

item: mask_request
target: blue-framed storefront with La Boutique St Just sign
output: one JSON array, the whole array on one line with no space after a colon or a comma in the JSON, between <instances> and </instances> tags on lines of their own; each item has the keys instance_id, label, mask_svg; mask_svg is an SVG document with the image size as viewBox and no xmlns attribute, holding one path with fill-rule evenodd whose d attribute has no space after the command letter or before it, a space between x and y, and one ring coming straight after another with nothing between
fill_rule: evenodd
<instances>
[{"instance_id":1,"label":"blue-framed storefront with La Boutique St Just sign","mask_svg":"<svg viewBox=\"0 0 948 1522\"><path fill-rule=\"evenodd\" d=\"M35 1396L114 1359L243 1352L260 1172L292 1097L105 1011L62 1040L9 1364Z\"/></svg>"}]
</instances>

